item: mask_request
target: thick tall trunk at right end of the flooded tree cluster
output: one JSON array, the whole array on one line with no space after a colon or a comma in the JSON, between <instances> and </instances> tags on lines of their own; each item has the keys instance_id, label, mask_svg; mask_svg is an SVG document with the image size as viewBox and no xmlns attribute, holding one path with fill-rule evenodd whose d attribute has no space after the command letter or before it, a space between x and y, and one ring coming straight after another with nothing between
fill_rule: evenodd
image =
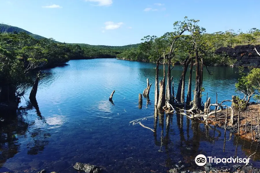
<instances>
[{"instance_id":1,"label":"thick tall trunk at right end of the flooded tree cluster","mask_svg":"<svg viewBox=\"0 0 260 173\"><path fill-rule=\"evenodd\" d=\"M198 48L196 47L196 82L194 90L194 99L193 99L193 108L197 113L200 113L201 110L201 75L200 75L200 61L198 58Z\"/></svg>"}]
</instances>

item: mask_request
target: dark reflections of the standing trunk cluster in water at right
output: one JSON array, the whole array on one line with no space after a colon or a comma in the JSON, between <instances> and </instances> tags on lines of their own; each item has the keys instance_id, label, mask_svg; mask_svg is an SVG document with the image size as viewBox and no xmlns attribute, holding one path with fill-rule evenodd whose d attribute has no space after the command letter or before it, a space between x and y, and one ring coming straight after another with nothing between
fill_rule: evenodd
<instances>
[{"instance_id":1,"label":"dark reflections of the standing trunk cluster in water at right","mask_svg":"<svg viewBox=\"0 0 260 173\"><path fill-rule=\"evenodd\" d=\"M176 122L173 123L173 117L175 119L175 116ZM183 124L184 119L186 125ZM218 152L217 154L219 156L223 157L225 152L228 152L226 153L228 155L231 153L231 156L237 156L238 148L240 147L239 149L243 151L247 157L256 152L252 159L260 159L260 147L258 147L258 143L243 140L237 136L233 136L229 131L224 131L224 129L220 129L213 125L206 125L198 121L193 121L181 114L165 114L164 111L155 108L153 128L155 130L153 134L155 145L160 147L159 152L166 153L165 166L172 166L176 164L176 160L181 160L194 167L195 165L193 160L198 154L207 155L208 152L212 152L211 149L205 148L203 143L208 142L213 146L216 145L215 142L217 141L218 144L219 142L223 142L223 145L220 146L223 147L221 149L223 153ZM226 133L228 133L228 135ZM179 139L176 139L176 134L178 134ZM229 139L227 139L226 136L229 136ZM229 151L226 150L225 147L228 141L233 141L234 152L233 150L230 150L230 148ZM218 146L215 146L215 148L217 147ZM174 151L176 148L179 150ZM178 153L178 155L176 155L176 153ZM243 155L243 153L239 154Z\"/></svg>"}]
</instances>

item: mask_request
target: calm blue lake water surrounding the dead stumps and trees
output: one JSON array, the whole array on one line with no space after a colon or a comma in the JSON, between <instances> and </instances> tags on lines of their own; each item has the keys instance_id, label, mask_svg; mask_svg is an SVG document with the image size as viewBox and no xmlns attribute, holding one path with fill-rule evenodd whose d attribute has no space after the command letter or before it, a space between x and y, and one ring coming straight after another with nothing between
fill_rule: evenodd
<instances>
[{"instance_id":1,"label":"calm blue lake water surrounding the dead stumps and trees","mask_svg":"<svg viewBox=\"0 0 260 173\"><path fill-rule=\"evenodd\" d=\"M180 160L194 166L198 154L244 158L255 151L250 163L260 166L258 144L182 115L156 114L155 64L116 59L67 64L44 71L38 104L29 102L28 90L20 104L27 108L0 122L0 172L77 172L76 162L103 166L109 172L165 172ZM213 75L203 74L203 100L207 93L214 100L216 92L218 100L231 99L236 94L237 69L211 70ZM175 92L181 72L178 65L172 70ZM146 78L153 83L151 101L146 104L144 98L139 109L138 94L146 88ZM113 90L114 104L108 100ZM155 133L129 123L148 116L141 122Z\"/></svg>"}]
</instances>

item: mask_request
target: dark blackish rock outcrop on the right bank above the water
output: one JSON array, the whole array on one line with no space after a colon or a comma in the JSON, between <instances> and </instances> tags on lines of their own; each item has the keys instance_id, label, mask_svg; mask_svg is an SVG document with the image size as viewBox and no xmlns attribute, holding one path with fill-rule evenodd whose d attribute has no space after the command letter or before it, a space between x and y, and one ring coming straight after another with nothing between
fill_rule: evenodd
<instances>
[{"instance_id":1,"label":"dark blackish rock outcrop on the right bank above the water","mask_svg":"<svg viewBox=\"0 0 260 173\"><path fill-rule=\"evenodd\" d=\"M232 47L221 47L215 51L216 54L229 56L232 59L237 59L237 62L234 66L253 66L253 67L260 67L260 58L257 52L254 49L260 50L260 46L254 45L240 45Z\"/></svg>"}]
</instances>

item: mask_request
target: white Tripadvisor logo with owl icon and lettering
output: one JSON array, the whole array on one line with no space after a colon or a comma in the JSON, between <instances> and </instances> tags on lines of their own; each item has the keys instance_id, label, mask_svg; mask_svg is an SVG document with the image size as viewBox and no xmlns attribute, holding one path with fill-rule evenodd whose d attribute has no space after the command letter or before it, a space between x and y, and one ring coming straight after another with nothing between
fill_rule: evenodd
<instances>
[{"instance_id":1,"label":"white Tripadvisor logo with owl icon and lettering","mask_svg":"<svg viewBox=\"0 0 260 173\"><path fill-rule=\"evenodd\" d=\"M207 159L208 158L208 159ZM249 163L250 158L238 158L238 157L229 157L229 158L216 158L216 157L206 157L203 154L197 155L195 158L195 163L198 166L204 166L207 161L209 163L246 163L246 165Z\"/></svg>"}]
</instances>

